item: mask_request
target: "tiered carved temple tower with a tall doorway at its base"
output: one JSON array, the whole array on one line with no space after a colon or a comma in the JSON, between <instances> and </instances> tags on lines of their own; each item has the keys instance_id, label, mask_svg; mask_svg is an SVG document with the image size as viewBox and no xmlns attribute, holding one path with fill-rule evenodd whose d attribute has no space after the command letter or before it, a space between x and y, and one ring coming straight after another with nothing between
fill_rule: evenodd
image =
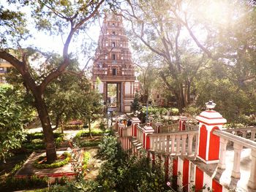
<instances>
[{"instance_id":1,"label":"tiered carved temple tower with a tall doorway at its base","mask_svg":"<svg viewBox=\"0 0 256 192\"><path fill-rule=\"evenodd\" d=\"M135 70L131 56L121 16L108 12L99 34L92 82L108 107L119 112L131 111L135 96Z\"/></svg>"}]
</instances>

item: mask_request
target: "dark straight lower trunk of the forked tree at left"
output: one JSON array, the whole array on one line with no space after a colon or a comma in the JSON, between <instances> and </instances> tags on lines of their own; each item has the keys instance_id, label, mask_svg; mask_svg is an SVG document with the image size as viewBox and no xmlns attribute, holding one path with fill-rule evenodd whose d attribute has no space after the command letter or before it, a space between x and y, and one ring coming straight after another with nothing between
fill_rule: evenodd
<instances>
[{"instance_id":1,"label":"dark straight lower trunk of the forked tree at left","mask_svg":"<svg viewBox=\"0 0 256 192\"><path fill-rule=\"evenodd\" d=\"M42 131L45 136L45 147L46 147L46 158L48 163L52 163L56 160L56 146L53 137L53 130L50 125L50 118L48 115L48 111L45 105L45 100L38 93L35 95L35 104L37 107L37 112L39 115L39 119L42 124Z\"/></svg>"}]
</instances>

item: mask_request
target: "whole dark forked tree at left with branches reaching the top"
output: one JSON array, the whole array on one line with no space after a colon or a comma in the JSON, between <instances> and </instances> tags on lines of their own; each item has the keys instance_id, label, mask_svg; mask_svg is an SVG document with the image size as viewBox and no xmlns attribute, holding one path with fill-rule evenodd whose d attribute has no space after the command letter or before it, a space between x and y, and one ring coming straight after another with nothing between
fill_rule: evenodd
<instances>
[{"instance_id":1,"label":"whole dark forked tree at left with branches reaching the top","mask_svg":"<svg viewBox=\"0 0 256 192\"><path fill-rule=\"evenodd\" d=\"M0 18L1 28L1 48L0 58L8 61L14 66L23 78L24 85L31 91L34 97L34 105L37 109L39 119L42 123L43 133L45 135L46 156L48 162L56 159L56 147L53 138L53 129L50 125L48 108L45 104L45 89L48 84L65 72L69 65L69 44L75 34L80 29L86 27L86 23L94 18L99 12L104 0L97 1L33 1L30 4L34 22L37 23L37 29L46 29L49 33L65 34L62 57L58 67L52 71L33 79L29 58L31 49L24 49L20 42L29 38L29 28L26 28L25 15L1 7ZM29 1L22 1L23 6L29 6ZM17 2L16 2L17 4ZM16 5L15 4L15 5ZM67 31L68 30L68 31ZM4 31L4 32L3 32ZM12 45L12 47L10 47ZM15 50L11 52L10 50Z\"/></svg>"}]
</instances>

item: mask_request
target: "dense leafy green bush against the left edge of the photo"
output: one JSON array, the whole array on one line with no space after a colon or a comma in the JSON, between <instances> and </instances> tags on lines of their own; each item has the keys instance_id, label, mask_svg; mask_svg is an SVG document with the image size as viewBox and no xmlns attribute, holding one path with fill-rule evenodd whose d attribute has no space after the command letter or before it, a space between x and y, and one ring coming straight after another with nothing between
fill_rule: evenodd
<instances>
[{"instance_id":1,"label":"dense leafy green bush against the left edge of the photo","mask_svg":"<svg viewBox=\"0 0 256 192\"><path fill-rule=\"evenodd\" d=\"M22 98L12 94L11 86L0 85L0 161L11 155L10 150L20 148L26 137L23 132Z\"/></svg>"}]
</instances>

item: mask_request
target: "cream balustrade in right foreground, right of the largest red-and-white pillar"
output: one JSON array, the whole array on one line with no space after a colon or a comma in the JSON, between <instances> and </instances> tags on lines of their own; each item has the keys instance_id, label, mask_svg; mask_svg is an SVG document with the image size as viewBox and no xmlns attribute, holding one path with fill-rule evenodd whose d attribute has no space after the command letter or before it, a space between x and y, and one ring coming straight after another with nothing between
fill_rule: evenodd
<instances>
[{"instance_id":1,"label":"cream balustrade in right foreground, right of the largest red-and-white pillar","mask_svg":"<svg viewBox=\"0 0 256 192\"><path fill-rule=\"evenodd\" d=\"M239 130L241 131L241 129L239 129ZM254 142L250 139L246 139L246 138L231 134L228 131L234 131L234 129L233 130L225 130L225 131L220 131L220 130L214 131L214 134L219 136L219 140L220 140L218 166L220 169L225 169L225 167L226 167L225 153L226 153L226 149L227 149L227 142L233 142L234 156L233 156L233 170L232 170L231 175L232 175L232 177L240 178L241 150L243 149L243 147L247 147L247 148L251 149L252 165L251 165L251 169L250 169L251 173L250 173L250 177L249 177L248 186L250 188L256 188L256 180L255 180L255 178L256 178L256 142ZM246 130L244 129L244 131L246 131Z\"/></svg>"}]
</instances>

